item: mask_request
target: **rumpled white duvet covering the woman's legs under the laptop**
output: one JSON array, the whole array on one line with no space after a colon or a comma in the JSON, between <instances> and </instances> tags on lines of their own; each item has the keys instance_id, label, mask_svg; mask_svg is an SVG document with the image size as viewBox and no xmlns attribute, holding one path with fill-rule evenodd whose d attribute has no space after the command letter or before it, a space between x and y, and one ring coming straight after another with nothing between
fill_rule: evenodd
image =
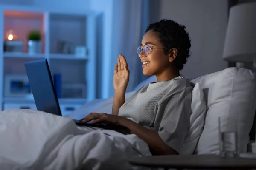
<instances>
[{"instance_id":1,"label":"rumpled white duvet covering the woman's legs under the laptop","mask_svg":"<svg viewBox=\"0 0 256 170\"><path fill-rule=\"evenodd\" d=\"M0 111L0 170L131 170L139 167L127 158L149 155L135 135L78 128L41 111Z\"/></svg>"}]
</instances>

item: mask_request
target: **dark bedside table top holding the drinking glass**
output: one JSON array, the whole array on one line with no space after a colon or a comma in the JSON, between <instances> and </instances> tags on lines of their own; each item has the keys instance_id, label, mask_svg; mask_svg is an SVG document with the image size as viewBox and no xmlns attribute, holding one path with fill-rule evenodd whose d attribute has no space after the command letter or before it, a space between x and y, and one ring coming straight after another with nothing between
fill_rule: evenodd
<instances>
[{"instance_id":1,"label":"dark bedside table top holding the drinking glass","mask_svg":"<svg viewBox=\"0 0 256 170\"><path fill-rule=\"evenodd\" d=\"M223 158L219 155L166 155L128 159L137 166L175 169L253 169L255 159Z\"/></svg>"}]
</instances>

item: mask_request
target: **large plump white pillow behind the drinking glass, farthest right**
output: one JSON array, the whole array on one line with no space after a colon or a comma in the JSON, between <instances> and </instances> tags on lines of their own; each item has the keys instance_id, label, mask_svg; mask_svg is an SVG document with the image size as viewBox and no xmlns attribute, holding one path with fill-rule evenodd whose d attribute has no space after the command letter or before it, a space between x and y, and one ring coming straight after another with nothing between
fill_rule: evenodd
<instances>
[{"instance_id":1,"label":"large plump white pillow behind the drinking glass, farthest right","mask_svg":"<svg viewBox=\"0 0 256 170\"><path fill-rule=\"evenodd\" d=\"M204 130L196 154L219 154L218 117L238 121L238 147L246 152L256 108L255 74L244 68L226 68L192 80L199 82L207 102Z\"/></svg>"}]
</instances>

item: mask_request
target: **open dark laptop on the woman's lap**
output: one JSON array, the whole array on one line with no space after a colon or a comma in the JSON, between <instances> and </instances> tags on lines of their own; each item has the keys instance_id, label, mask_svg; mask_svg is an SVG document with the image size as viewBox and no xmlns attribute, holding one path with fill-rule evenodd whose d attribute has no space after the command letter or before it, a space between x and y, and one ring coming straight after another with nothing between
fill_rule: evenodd
<instances>
[{"instance_id":1,"label":"open dark laptop on the woman's lap","mask_svg":"<svg viewBox=\"0 0 256 170\"><path fill-rule=\"evenodd\" d=\"M37 110L62 116L47 59L25 62L24 65ZM99 127L108 130L126 130L126 127L117 125L83 123L74 119L73 121L79 126Z\"/></svg>"}]
</instances>

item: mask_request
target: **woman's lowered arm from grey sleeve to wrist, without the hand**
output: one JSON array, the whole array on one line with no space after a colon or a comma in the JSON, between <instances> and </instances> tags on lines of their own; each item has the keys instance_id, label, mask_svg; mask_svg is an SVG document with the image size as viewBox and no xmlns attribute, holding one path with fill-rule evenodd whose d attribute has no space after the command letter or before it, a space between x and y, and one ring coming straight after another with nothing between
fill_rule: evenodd
<instances>
[{"instance_id":1,"label":"woman's lowered arm from grey sleeve to wrist, without the hand","mask_svg":"<svg viewBox=\"0 0 256 170\"><path fill-rule=\"evenodd\" d=\"M173 97L157 106L159 114L154 120L157 130L149 130L129 119L121 119L120 125L127 127L131 133L143 139L152 154L177 154L189 129L191 115L191 93L186 97ZM162 113L163 112L163 113ZM160 116L160 117L159 117Z\"/></svg>"}]
</instances>

